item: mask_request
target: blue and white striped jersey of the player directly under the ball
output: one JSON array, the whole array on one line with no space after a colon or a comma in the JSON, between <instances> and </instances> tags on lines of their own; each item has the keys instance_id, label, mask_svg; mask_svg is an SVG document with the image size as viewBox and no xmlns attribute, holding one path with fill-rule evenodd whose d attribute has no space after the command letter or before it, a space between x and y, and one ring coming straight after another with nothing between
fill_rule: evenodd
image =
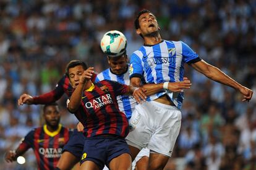
<instances>
[{"instance_id":1,"label":"blue and white striped jersey of the player directly under the ball","mask_svg":"<svg viewBox=\"0 0 256 170\"><path fill-rule=\"evenodd\" d=\"M113 80L122 84L130 85L129 69L127 69L126 73L122 75L113 74L110 69L106 69L97 75L95 82L99 82L101 80ZM120 111L124 112L129 120L132 116L132 111L137 104L134 96L117 96L116 98Z\"/></svg>"}]
</instances>

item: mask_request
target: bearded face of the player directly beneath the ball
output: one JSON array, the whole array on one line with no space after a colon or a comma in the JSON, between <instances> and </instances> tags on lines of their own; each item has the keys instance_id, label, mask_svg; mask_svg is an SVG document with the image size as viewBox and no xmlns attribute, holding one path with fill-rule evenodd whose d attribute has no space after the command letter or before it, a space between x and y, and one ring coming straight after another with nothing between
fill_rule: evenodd
<instances>
[{"instance_id":1,"label":"bearded face of the player directly beneath the ball","mask_svg":"<svg viewBox=\"0 0 256 170\"><path fill-rule=\"evenodd\" d=\"M108 57L108 64L114 74L124 74L127 70L127 55L121 57Z\"/></svg>"}]
</instances>

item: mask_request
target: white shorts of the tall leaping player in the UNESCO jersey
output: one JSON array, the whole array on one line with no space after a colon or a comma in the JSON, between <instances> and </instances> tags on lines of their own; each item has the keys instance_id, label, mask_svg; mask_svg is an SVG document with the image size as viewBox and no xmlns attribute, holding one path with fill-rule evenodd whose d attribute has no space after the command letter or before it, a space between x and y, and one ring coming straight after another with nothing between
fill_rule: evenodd
<instances>
[{"instance_id":1,"label":"white shorts of the tall leaping player in the UNESCO jersey","mask_svg":"<svg viewBox=\"0 0 256 170\"><path fill-rule=\"evenodd\" d=\"M181 129L181 111L175 106L146 101L135 106L129 124L128 145L171 156Z\"/></svg>"}]
</instances>

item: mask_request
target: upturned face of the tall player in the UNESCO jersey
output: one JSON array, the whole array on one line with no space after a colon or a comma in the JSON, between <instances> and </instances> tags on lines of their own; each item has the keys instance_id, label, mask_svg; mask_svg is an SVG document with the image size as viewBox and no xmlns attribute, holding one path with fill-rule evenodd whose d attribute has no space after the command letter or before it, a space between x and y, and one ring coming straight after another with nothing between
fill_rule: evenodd
<instances>
[{"instance_id":1,"label":"upturned face of the tall player in the UNESCO jersey","mask_svg":"<svg viewBox=\"0 0 256 170\"><path fill-rule=\"evenodd\" d=\"M137 29L136 32L137 34L142 34L142 36L147 36L160 30L156 17L149 12L140 15L139 25L140 28Z\"/></svg>"}]
</instances>

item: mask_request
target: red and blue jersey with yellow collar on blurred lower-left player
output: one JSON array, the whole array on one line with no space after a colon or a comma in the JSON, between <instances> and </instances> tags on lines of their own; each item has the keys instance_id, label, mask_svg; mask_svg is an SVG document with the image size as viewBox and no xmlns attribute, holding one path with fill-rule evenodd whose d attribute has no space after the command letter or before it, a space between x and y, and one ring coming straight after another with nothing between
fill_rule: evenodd
<instances>
[{"instance_id":1,"label":"red and blue jersey with yellow collar on blurred lower-left player","mask_svg":"<svg viewBox=\"0 0 256 170\"><path fill-rule=\"evenodd\" d=\"M58 130L49 132L46 125L38 127L25 136L19 145L19 150L27 151L32 148L38 169L54 169L61 158L62 148L68 142L72 131L59 124Z\"/></svg>"}]
</instances>

